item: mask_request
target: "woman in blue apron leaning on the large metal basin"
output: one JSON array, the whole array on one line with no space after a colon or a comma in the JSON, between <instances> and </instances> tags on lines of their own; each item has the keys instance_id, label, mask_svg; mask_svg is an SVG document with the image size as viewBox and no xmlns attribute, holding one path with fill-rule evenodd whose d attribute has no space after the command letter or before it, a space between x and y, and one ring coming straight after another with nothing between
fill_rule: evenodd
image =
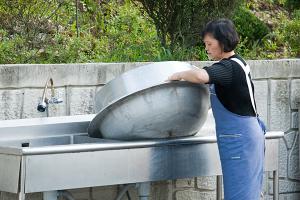
<instances>
[{"instance_id":1,"label":"woman in blue apron leaning on the large metal basin","mask_svg":"<svg viewBox=\"0 0 300 200\"><path fill-rule=\"evenodd\" d=\"M259 120L250 69L237 54L239 38L228 19L209 22L202 33L210 67L173 74L169 80L209 83L225 200L258 200L262 189L265 127Z\"/></svg>"}]
</instances>

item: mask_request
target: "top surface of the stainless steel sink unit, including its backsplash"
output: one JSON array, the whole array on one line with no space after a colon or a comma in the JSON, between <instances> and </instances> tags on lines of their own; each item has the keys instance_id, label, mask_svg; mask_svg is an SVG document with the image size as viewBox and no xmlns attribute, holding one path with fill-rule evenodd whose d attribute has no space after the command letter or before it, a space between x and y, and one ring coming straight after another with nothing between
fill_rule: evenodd
<instances>
[{"instance_id":1,"label":"top surface of the stainless steel sink unit, including its backsplash","mask_svg":"<svg viewBox=\"0 0 300 200\"><path fill-rule=\"evenodd\" d=\"M95 117L91 115L32 118L0 121L0 154L10 155L42 155L72 152L106 151L117 149L149 148L166 145L195 145L216 143L214 119L211 110L201 130L195 136L151 139L139 141L119 141L102 138L90 138L87 134L89 122ZM270 131L266 139L283 137L280 131ZM7 145L11 141L56 140L45 146L21 147ZM65 140L67 141L65 142ZM64 140L64 141L63 141ZM75 141L77 140L77 141Z\"/></svg>"}]
</instances>

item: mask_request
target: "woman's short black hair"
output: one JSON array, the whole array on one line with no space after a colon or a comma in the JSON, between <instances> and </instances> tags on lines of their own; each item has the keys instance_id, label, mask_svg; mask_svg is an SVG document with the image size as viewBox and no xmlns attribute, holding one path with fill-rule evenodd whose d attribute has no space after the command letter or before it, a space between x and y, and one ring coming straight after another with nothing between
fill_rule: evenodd
<instances>
[{"instance_id":1,"label":"woman's short black hair","mask_svg":"<svg viewBox=\"0 0 300 200\"><path fill-rule=\"evenodd\" d=\"M219 41L224 52L233 51L240 41L236 28L229 19L217 19L208 22L202 31L202 39L207 34L211 34Z\"/></svg>"}]
</instances>

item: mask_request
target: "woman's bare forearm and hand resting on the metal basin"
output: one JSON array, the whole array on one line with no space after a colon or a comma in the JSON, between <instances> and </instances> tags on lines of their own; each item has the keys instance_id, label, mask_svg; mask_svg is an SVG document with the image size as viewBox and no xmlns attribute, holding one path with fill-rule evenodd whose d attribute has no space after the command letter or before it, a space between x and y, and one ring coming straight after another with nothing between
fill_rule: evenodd
<instances>
[{"instance_id":1,"label":"woman's bare forearm and hand resting on the metal basin","mask_svg":"<svg viewBox=\"0 0 300 200\"><path fill-rule=\"evenodd\" d=\"M209 75L204 69L191 69L187 71L177 72L172 74L169 81L185 80L192 83L208 83Z\"/></svg>"}]
</instances>

